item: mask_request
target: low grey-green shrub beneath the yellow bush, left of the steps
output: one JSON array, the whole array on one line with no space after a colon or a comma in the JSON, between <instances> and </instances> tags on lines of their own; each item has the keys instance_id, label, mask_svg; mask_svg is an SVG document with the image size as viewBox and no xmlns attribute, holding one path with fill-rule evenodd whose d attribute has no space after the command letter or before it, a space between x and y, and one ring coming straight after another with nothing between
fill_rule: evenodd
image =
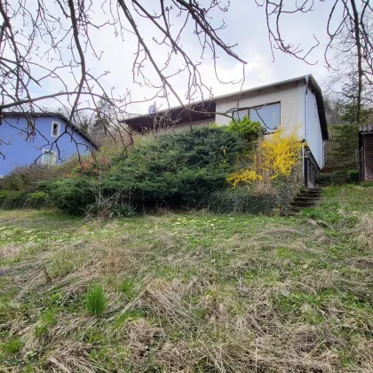
<instances>
[{"instance_id":1,"label":"low grey-green shrub beneath the yellow bush, left of the steps","mask_svg":"<svg viewBox=\"0 0 373 373\"><path fill-rule=\"evenodd\" d=\"M233 187L210 198L210 211L218 214L264 214L274 210L274 195L255 195L249 187Z\"/></svg>"}]
</instances>

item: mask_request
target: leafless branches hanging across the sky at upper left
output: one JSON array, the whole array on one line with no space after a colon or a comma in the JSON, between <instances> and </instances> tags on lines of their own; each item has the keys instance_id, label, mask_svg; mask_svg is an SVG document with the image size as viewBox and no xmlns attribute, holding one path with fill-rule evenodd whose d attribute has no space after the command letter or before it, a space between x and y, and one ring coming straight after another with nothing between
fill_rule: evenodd
<instances>
[{"instance_id":1,"label":"leafless branches hanging across the sky at upper left","mask_svg":"<svg viewBox=\"0 0 373 373\"><path fill-rule=\"evenodd\" d=\"M216 18L212 19L212 13L226 11L227 6L219 0L205 4L198 0L0 0L0 119L6 121L2 115L6 111L23 112L28 127L22 131L30 140L43 136L35 125L36 112L58 106L69 113L70 123L80 112L91 113L91 118L105 116L102 122L110 123L105 132L114 137L114 131L122 126L120 120L131 114L132 104L153 102L156 97L170 103L173 96L184 106L184 99L203 99L210 94L199 68L203 57L213 60L215 71L222 53L245 64L234 52L234 45L220 36L225 22L215 24ZM104 28L111 28L122 41L135 38L138 48L132 60L133 82L151 88L151 97L136 99L131 91L115 94L103 83L108 74L105 68L101 73L92 68L102 55L92 35ZM149 33L153 39L145 36ZM183 47L185 34L198 40L198 60ZM162 47L161 61L155 56L154 44ZM174 59L179 63L172 64ZM186 74L183 98L172 82L178 75L185 79ZM45 93L51 86L53 91ZM111 109L101 111L100 100L107 101ZM60 137L69 135L78 147L73 132L69 126ZM59 150L60 137L45 141ZM0 146L5 145L0 136Z\"/></svg>"}]
</instances>

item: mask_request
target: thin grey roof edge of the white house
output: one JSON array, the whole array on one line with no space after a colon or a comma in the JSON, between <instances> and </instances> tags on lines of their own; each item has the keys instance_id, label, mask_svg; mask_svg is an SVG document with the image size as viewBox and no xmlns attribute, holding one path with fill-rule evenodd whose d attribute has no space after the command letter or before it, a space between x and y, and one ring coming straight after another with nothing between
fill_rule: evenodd
<instances>
[{"instance_id":1,"label":"thin grey roof edge of the white house","mask_svg":"<svg viewBox=\"0 0 373 373\"><path fill-rule=\"evenodd\" d=\"M325 114L324 99L322 97L321 87L316 82L316 79L313 77L312 74L301 75L301 76L297 76L297 77L294 77L294 78L291 78L291 79L282 80L280 82L274 82L274 83L269 83L269 84L265 84L265 85L259 85L257 87L252 87L252 88L249 88L247 90L234 91L234 92L226 93L226 94L219 95L219 96L216 96L216 97L210 97L209 99L202 99L202 100L199 100L199 101L186 103L185 106L186 107L192 107L194 105L200 105L203 102L218 101L220 99L227 99L227 98L234 97L234 96L242 96L246 93L250 93L250 92L254 92L254 91L267 90L267 89L276 87L278 85L285 85L285 84L296 83L296 82L301 82L301 81L304 81L306 83L306 78L307 77L308 77L309 84L312 85L313 89L317 93L316 94L316 99L317 99L317 106L318 106L318 111L319 111L319 118L320 118L320 122L321 122L322 139L327 140L327 139L329 139L329 134L328 134L328 124L327 124L326 114ZM162 113L166 113L166 112L171 111L171 110L177 110L181 107L182 106L178 105L176 107L170 107L170 108L166 108L166 109L163 109L163 110L159 110L156 113L157 114L162 114ZM151 115L153 115L153 114L151 114ZM123 119L122 122L126 123L126 121L130 121L130 120L132 121L132 120L138 119L138 118L150 117L151 115L149 115L149 114L134 115L134 116Z\"/></svg>"}]
</instances>

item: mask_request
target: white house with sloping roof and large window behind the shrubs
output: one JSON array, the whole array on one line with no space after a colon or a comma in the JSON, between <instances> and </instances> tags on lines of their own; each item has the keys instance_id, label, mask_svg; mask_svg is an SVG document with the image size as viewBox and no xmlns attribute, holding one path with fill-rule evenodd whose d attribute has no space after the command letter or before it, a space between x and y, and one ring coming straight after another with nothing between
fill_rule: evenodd
<instances>
[{"instance_id":1,"label":"white house with sloping roof and large window behind the shrubs","mask_svg":"<svg viewBox=\"0 0 373 373\"><path fill-rule=\"evenodd\" d=\"M313 75L237 91L186 107L171 107L152 114L126 119L134 131L168 128L181 131L191 127L224 125L234 118L248 115L259 121L266 133L280 125L290 133L298 128L298 138L305 141L304 175L307 187L315 187L316 173L324 166L324 141L328 127L321 88Z\"/></svg>"}]
</instances>

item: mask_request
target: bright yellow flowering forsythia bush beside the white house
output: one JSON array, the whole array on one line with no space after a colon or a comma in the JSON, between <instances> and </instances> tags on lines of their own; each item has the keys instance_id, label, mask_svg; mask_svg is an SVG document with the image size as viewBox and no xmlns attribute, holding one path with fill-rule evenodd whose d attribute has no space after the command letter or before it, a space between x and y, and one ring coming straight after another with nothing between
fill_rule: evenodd
<instances>
[{"instance_id":1,"label":"bright yellow flowering forsythia bush beside the white house","mask_svg":"<svg viewBox=\"0 0 373 373\"><path fill-rule=\"evenodd\" d=\"M252 168L236 171L226 180L236 187L239 184L290 176L291 170L301 159L300 150L303 147L298 139L297 130L289 136L286 136L281 128L275 131L259 143Z\"/></svg>"}]
</instances>

